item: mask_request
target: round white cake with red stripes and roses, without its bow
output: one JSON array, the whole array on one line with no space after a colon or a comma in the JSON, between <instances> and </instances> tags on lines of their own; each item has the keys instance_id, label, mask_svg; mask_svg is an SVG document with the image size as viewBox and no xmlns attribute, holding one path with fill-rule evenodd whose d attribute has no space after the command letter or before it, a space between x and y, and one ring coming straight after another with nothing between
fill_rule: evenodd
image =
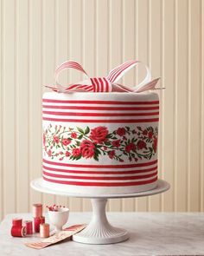
<instances>
[{"instance_id":1,"label":"round white cake with red stripes and roses, without its bow","mask_svg":"<svg viewBox=\"0 0 204 256\"><path fill-rule=\"evenodd\" d=\"M158 95L45 93L45 186L77 194L123 194L156 187Z\"/></svg>"}]
</instances>

